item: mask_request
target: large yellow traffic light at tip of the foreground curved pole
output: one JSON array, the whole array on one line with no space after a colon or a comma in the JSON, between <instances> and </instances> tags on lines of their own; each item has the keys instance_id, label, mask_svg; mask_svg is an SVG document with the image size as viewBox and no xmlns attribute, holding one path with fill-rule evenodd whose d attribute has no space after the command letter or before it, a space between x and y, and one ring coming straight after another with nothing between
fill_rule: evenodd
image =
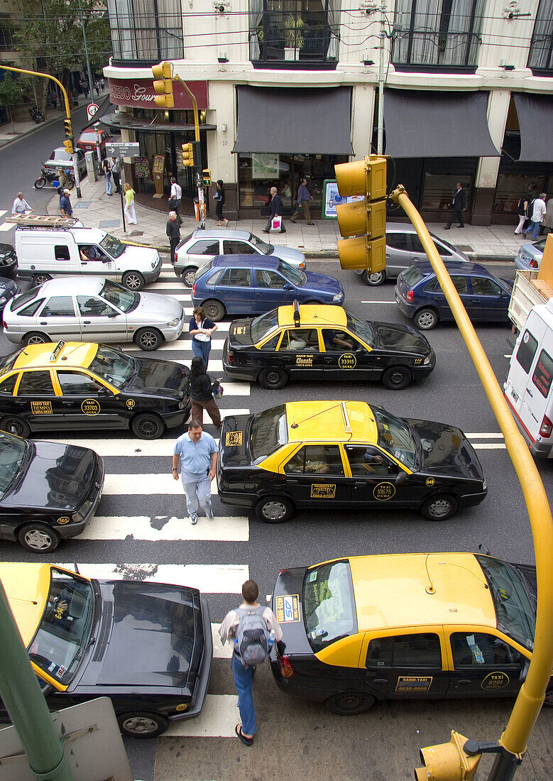
<instances>
[{"instance_id":1,"label":"large yellow traffic light at tip of the foreground curved pole","mask_svg":"<svg viewBox=\"0 0 553 781\"><path fill-rule=\"evenodd\" d=\"M334 166L338 192L358 196L337 205L340 233L338 255L343 269L366 269L373 274L386 268L386 158L369 155L357 162Z\"/></svg>"}]
</instances>

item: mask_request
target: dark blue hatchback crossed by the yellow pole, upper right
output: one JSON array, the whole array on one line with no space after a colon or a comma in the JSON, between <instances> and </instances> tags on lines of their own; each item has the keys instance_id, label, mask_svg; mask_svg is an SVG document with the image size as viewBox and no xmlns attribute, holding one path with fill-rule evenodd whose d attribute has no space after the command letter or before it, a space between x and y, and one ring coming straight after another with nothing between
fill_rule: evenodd
<instances>
[{"instance_id":1,"label":"dark blue hatchback crossed by the yellow pole, upper right","mask_svg":"<svg viewBox=\"0 0 553 781\"><path fill-rule=\"evenodd\" d=\"M512 281L502 280L478 263L445 263L453 284L475 322L507 322ZM395 300L401 312L412 317L420 330L433 328L440 320L452 320L448 301L429 261L419 261L398 276Z\"/></svg>"}]
</instances>

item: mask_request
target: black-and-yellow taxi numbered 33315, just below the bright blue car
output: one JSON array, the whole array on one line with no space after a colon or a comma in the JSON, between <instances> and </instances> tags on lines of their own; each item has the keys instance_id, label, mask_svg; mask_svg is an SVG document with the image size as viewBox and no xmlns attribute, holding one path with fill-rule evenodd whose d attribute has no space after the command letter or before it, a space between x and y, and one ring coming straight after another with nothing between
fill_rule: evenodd
<instances>
[{"instance_id":1,"label":"black-and-yellow taxi numbered 33315, just below the bright blue car","mask_svg":"<svg viewBox=\"0 0 553 781\"><path fill-rule=\"evenodd\" d=\"M237 380L281 388L289 380L381 380L401 391L426 377L436 355L421 333L395 323L370 323L341 306L280 306L234 320L223 369Z\"/></svg>"}]
</instances>

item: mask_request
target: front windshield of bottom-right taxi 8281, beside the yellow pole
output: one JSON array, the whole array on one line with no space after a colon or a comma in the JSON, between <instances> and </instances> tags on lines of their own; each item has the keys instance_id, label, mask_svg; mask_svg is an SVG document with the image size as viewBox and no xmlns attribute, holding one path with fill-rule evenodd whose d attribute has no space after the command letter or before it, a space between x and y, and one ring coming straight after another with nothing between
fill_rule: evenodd
<instances>
[{"instance_id":1,"label":"front windshield of bottom-right taxi 8281, beside the yellow pole","mask_svg":"<svg viewBox=\"0 0 553 781\"><path fill-rule=\"evenodd\" d=\"M494 601L498 629L530 651L536 631L536 611L516 569L491 556L476 556Z\"/></svg>"}]
</instances>

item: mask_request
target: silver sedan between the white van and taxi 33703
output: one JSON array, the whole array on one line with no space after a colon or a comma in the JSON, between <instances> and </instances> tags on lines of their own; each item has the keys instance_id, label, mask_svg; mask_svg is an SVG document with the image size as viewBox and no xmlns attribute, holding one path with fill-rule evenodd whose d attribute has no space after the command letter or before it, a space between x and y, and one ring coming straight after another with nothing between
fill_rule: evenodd
<instances>
[{"instance_id":1,"label":"silver sedan between the white van and taxi 33703","mask_svg":"<svg viewBox=\"0 0 553 781\"><path fill-rule=\"evenodd\" d=\"M134 293L102 276L66 276L12 298L2 319L15 344L134 341L149 351L180 337L184 309L176 298Z\"/></svg>"}]
</instances>

